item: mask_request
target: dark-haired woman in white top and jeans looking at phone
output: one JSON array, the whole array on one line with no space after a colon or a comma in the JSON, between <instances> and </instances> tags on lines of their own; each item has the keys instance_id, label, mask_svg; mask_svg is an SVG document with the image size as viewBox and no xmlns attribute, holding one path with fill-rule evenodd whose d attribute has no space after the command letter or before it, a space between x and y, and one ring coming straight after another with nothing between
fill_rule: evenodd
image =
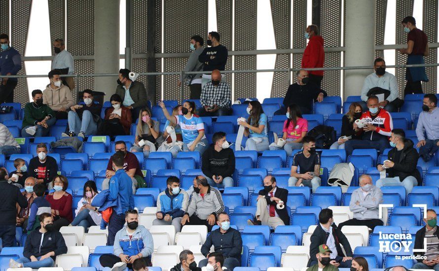
<instances>
[{"instance_id":1,"label":"dark-haired woman in white top and jeans looking at phone","mask_svg":"<svg viewBox=\"0 0 439 271\"><path fill-rule=\"evenodd\" d=\"M91 205L95 196L98 195L98 189L94 181L88 181L84 184L84 193L82 199L78 202L75 218L72 226L82 226L85 232L91 226L101 225L102 215L98 208Z\"/></svg>"}]
</instances>

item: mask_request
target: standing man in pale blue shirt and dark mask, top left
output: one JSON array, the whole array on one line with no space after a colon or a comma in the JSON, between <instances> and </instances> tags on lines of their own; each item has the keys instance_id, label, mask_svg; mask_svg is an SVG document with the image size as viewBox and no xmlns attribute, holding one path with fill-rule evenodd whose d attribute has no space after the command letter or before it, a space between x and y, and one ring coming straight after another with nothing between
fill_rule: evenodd
<instances>
[{"instance_id":1,"label":"standing man in pale blue shirt and dark mask, top left","mask_svg":"<svg viewBox=\"0 0 439 271\"><path fill-rule=\"evenodd\" d=\"M74 73L74 60L71 53L67 52L64 39L57 38L53 41L53 52L56 56L52 61L52 69L61 71L61 74ZM68 86L71 90L74 89L73 77L61 77L63 84Z\"/></svg>"}]
</instances>

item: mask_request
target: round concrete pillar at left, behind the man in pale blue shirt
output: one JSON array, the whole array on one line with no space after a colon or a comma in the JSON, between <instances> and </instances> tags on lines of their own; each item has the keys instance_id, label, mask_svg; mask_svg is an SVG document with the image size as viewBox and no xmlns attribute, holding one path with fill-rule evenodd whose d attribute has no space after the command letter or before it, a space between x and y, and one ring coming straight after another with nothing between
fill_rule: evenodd
<instances>
[{"instance_id":1,"label":"round concrete pillar at left, behind the man in pale blue shirt","mask_svg":"<svg viewBox=\"0 0 439 271\"><path fill-rule=\"evenodd\" d=\"M119 0L95 0L95 73L119 71ZM95 77L95 91L110 101L116 92L115 76Z\"/></svg>"}]
</instances>

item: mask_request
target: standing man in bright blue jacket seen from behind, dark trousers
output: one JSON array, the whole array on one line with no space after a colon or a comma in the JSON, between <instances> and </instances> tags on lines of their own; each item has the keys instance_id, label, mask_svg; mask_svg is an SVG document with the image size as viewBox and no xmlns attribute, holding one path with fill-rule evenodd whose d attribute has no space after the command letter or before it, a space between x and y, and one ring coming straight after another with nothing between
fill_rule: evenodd
<instances>
[{"instance_id":1,"label":"standing man in bright blue jacket seen from behind, dark trousers","mask_svg":"<svg viewBox=\"0 0 439 271\"><path fill-rule=\"evenodd\" d=\"M125 153L121 150L117 150L110 159L111 168L114 169L115 172L114 174L111 174L110 193L107 199L109 201L120 202L120 204L115 208L113 207L111 212L110 220L108 222L107 245L114 244L116 233L123 228L123 225L125 224L125 212L134 209L133 181L123 168L125 164L124 159Z\"/></svg>"}]
</instances>

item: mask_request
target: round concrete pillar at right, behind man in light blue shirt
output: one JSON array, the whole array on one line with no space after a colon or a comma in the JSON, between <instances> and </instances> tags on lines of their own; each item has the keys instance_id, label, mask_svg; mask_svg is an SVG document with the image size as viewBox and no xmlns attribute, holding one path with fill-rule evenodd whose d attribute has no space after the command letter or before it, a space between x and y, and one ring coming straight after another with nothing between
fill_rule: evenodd
<instances>
[{"instance_id":1,"label":"round concrete pillar at right, behind man in light blue shirt","mask_svg":"<svg viewBox=\"0 0 439 271\"><path fill-rule=\"evenodd\" d=\"M373 66L375 57L375 1L346 1L344 66ZM344 98L360 95L365 77L373 70L345 70Z\"/></svg>"}]
</instances>

